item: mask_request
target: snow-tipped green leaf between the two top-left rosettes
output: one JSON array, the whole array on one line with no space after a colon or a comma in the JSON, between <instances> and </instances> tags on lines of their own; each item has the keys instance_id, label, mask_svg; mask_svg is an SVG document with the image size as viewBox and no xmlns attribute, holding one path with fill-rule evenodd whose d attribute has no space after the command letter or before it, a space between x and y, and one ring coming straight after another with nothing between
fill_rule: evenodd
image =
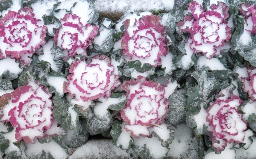
<instances>
[{"instance_id":1,"label":"snow-tipped green leaf between the two top-left rosettes","mask_svg":"<svg viewBox=\"0 0 256 159\"><path fill-rule=\"evenodd\" d=\"M44 20L44 25L48 27L48 30L47 30L48 35L54 36L55 30L61 27L60 20L58 20L58 18L52 15L49 15L49 16L44 15L42 18Z\"/></svg>"}]
</instances>

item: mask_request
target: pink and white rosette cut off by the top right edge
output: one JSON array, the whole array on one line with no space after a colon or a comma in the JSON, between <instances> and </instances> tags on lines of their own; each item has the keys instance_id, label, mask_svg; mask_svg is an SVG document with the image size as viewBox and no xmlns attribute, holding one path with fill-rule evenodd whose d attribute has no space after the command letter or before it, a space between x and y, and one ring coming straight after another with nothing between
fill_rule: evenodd
<instances>
[{"instance_id":1,"label":"pink and white rosette cut off by the top right edge","mask_svg":"<svg viewBox=\"0 0 256 159\"><path fill-rule=\"evenodd\" d=\"M250 4L242 4L239 7L240 12L245 17L245 22L248 25L246 30L252 34L256 34L256 6Z\"/></svg>"}]
</instances>

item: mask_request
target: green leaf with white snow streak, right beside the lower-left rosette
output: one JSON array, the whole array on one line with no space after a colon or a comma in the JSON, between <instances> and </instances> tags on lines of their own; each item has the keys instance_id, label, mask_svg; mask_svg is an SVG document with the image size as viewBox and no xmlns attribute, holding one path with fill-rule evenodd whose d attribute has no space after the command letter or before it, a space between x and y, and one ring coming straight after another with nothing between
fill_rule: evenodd
<instances>
[{"instance_id":1,"label":"green leaf with white snow streak, right beside the lower-left rosette","mask_svg":"<svg viewBox=\"0 0 256 159\"><path fill-rule=\"evenodd\" d=\"M61 127L66 130L75 129L79 122L77 112L65 98L53 97L52 115Z\"/></svg>"}]
</instances>

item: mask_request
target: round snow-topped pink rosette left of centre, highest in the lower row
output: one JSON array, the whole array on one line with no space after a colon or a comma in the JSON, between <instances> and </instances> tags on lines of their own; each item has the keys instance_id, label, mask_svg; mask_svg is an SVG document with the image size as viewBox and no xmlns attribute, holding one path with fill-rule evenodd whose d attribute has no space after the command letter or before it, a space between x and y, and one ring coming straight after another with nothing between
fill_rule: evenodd
<instances>
[{"instance_id":1,"label":"round snow-topped pink rosette left of centre, highest in the lower row","mask_svg":"<svg viewBox=\"0 0 256 159\"><path fill-rule=\"evenodd\" d=\"M115 69L105 55L97 55L87 61L76 60L69 68L71 74L68 82L64 83L64 92L84 102L110 97L111 91L121 84Z\"/></svg>"}]
</instances>

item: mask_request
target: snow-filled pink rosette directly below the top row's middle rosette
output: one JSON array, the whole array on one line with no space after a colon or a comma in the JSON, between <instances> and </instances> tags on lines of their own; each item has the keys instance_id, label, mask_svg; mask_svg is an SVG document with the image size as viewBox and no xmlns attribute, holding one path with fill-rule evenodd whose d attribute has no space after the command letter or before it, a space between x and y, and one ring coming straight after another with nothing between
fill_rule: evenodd
<instances>
[{"instance_id":1,"label":"snow-filled pink rosette directly below the top row's middle rosette","mask_svg":"<svg viewBox=\"0 0 256 159\"><path fill-rule=\"evenodd\" d=\"M127 97L127 103L121 110L121 118L127 123L125 130L137 138L151 135L149 128L164 123L169 107L165 86L138 76L136 81L125 81L122 88Z\"/></svg>"}]
</instances>

